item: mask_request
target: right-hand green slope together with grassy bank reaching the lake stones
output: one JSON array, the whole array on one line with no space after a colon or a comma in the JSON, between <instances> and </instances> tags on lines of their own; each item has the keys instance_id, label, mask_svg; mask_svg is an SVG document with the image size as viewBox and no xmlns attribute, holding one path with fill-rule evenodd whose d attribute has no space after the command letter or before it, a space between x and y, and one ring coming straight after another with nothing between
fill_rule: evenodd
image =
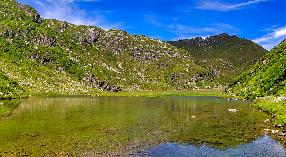
<instances>
[{"instance_id":1,"label":"right-hand green slope together with grassy bank reaching the lake stones","mask_svg":"<svg viewBox=\"0 0 286 157\"><path fill-rule=\"evenodd\" d=\"M286 101L273 102L275 97L286 95L285 42L286 39L233 79L220 97L257 100L255 106L271 114L277 112L275 123L286 124ZM267 95L271 97L262 100Z\"/></svg>"}]
</instances>

